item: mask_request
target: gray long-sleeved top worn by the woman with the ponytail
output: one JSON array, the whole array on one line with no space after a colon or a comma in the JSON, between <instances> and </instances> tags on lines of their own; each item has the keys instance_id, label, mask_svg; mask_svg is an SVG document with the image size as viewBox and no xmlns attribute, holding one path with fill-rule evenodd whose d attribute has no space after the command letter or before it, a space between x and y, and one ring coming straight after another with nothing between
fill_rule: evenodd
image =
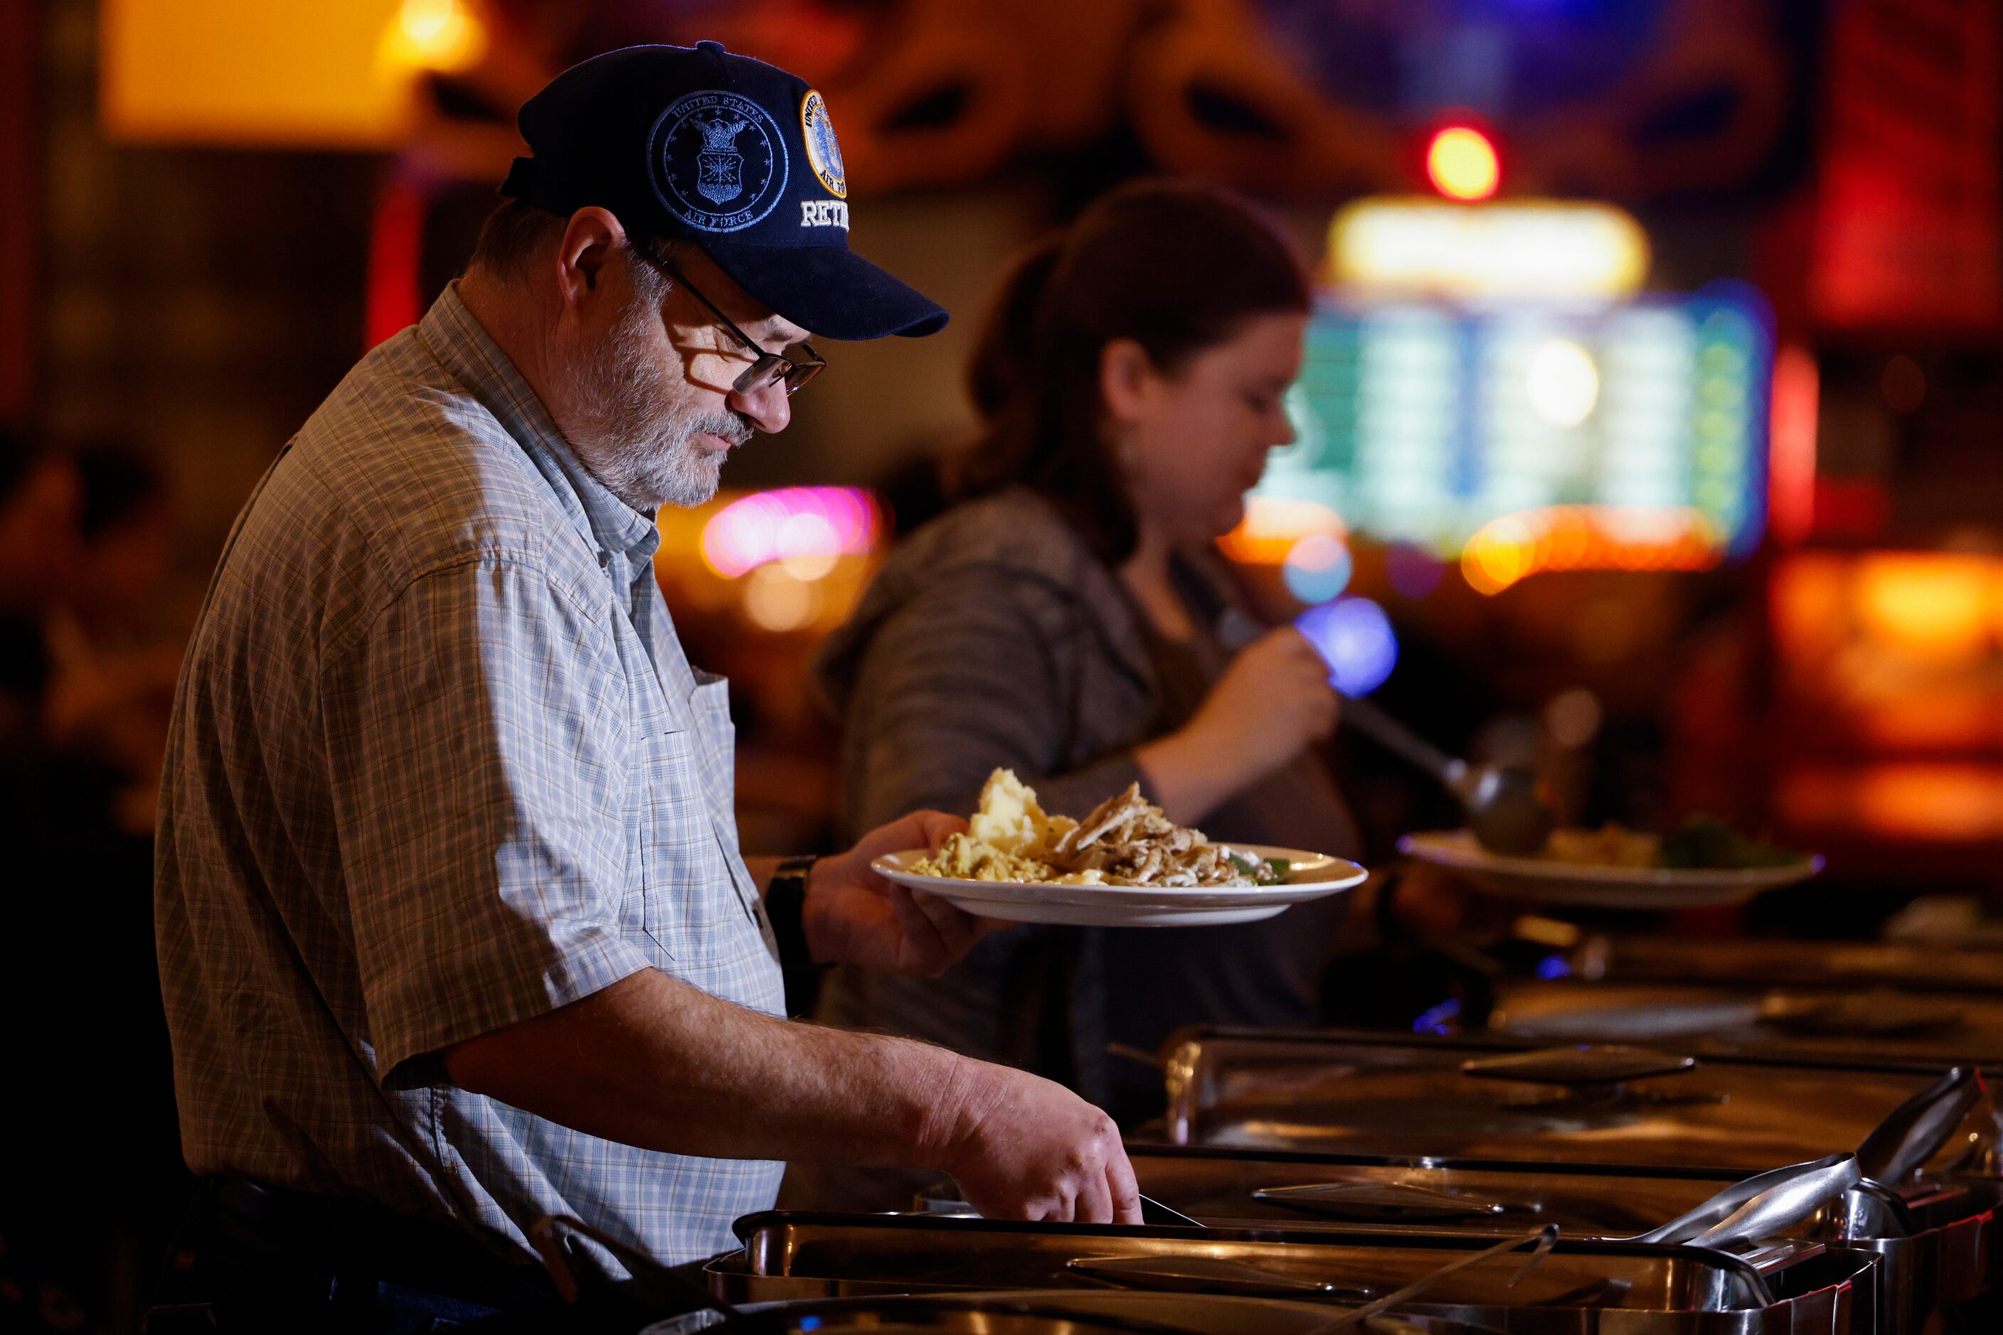
<instances>
[{"instance_id":1,"label":"gray long-sleeved top worn by the woman with the ponytail","mask_svg":"<svg viewBox=\"0 0 2003 1335\"><path fill-rule=\"evenodd\" d=\"M1202 584L1204 612L1246 614L1200 554L1182 570ZM843 721L851 833L919 807L967 813L995 767L1032 783L1046 811L1088 813L1142 779L1134 749L1180 727L1206 689L1162 666L1120 576L1048 502L1018 488L953 508L897 548L819 662ZM1204 829L1328 853L1356 845L1328 773L1306 757ZM1340 917L1328 903L1202 933L1010 929L939 979L835 971L819 1017L1030 1067L1110 1103L1124 1081L1108 1041L1152 1047L1202 1021L1314 1023ZM1136 973L1146 993L1122 981Z\"/></svg>"}]
</instances>

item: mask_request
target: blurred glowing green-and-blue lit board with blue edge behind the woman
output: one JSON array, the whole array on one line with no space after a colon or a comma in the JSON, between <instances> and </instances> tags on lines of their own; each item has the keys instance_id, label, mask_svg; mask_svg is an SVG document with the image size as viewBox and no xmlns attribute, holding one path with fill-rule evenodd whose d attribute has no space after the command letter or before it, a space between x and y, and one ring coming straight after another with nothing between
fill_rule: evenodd
<instances>
[{"instance_id":1,"label":"blurred glowing green-and-blue lit board with blue edge behind the woman","mask_svg":"<svg viewBox=\"0 0 2003 1335\"><path fill-rule=\"evenodd\" d=\"M1508 518L1464 564L1490 588L1743 556L1767 512L1769 360L1765 308L1741 290L1590 308L1332 300L1288 392L1296 440L1268 456L1226 550L1278 564L1320 506L1332 530L1444 556Z\"/></svg>"}]
</instances>

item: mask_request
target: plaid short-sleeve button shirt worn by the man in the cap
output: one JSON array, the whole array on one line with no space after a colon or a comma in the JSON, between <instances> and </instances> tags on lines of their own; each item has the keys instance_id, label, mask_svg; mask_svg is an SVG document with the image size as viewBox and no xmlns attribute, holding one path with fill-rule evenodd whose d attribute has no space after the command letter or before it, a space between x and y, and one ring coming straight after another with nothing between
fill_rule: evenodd
<instances>
[{"instance_id":1,"label":"plaid short-sleeve button shirt worn by the man in the cap","mask_svg":"<svg viewBox=\"0 0 2003 1335\"><path fill-rule=\"evenodd\" d=\"M182 666L160 807L196 1173L369 1197L519 1259L551 1213L675 1263L771 1205L777 1163L581 1135L439 1057L641 969L783 1013L725 685L681 652L657 544L455 290L272 464Z\"/></svg>"}]
</instances>

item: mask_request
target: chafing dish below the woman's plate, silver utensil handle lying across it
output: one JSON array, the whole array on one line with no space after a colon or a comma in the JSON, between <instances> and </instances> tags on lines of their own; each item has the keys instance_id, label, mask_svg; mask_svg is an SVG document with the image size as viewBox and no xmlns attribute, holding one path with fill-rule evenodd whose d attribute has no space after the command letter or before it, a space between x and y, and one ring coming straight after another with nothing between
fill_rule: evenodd
<instances>
[{"instance_id":1,"label":"chafing dish below the woman's plate, silver utensil handle lying across it","mask_svg":"<svg viewBox=\"0 0 2003 1335\"><path fill-rule=\"evenodd\" d=\"M1534 1043L1673 1043L1697 1055L2003 1065L2003 993L1883 985L1510 981L1488 1029Z\"/></svg>"}]
</instances>

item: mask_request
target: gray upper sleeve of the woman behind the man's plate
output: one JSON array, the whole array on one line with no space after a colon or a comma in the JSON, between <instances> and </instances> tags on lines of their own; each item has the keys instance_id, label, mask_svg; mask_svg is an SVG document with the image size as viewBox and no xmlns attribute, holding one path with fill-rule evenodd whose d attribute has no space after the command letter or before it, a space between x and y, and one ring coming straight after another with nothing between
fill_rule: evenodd
<instances>
[{"instance_id":1,"label":"gray upper sleeve of the woman behind the man's plate","mask_svg":"<svg viewBox=\"0 0 2003 1335\"><path fill-rule=\"evenodd\" d=\"M1130 749L1064 769L1078 683L1036 598L1006 570L971 566L883 620L845 721L855 833L923 807L965 815L993 769L1014 769L1044 811L1066 815L1142 779Z\"/></svg>"}]
</instances>

